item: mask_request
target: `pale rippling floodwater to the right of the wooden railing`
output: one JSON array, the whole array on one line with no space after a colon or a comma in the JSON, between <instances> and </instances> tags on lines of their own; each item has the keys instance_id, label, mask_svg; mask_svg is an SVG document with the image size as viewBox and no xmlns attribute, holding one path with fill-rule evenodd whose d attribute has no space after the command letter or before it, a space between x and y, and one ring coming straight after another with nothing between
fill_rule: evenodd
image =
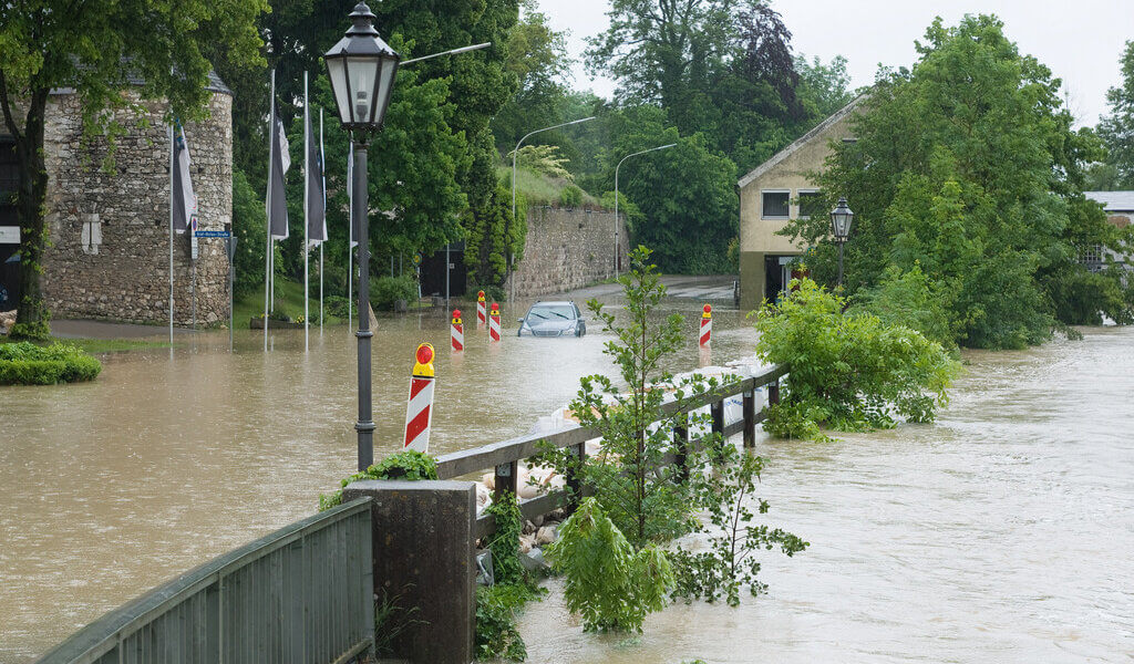
<instances>
[{"instance_id":1,"label":"pale rippling floodwater to the right of the wooden railing","mask_svg":"<svg viewBox=\"0 0 1134 664\"><path fill-rule=\"evenodd\" d=\"M1134 330L967 352L937 424L763 441L768 595L584 635L552 591L539 663L1134 662Z\"/></svg>"}]
</instances>

